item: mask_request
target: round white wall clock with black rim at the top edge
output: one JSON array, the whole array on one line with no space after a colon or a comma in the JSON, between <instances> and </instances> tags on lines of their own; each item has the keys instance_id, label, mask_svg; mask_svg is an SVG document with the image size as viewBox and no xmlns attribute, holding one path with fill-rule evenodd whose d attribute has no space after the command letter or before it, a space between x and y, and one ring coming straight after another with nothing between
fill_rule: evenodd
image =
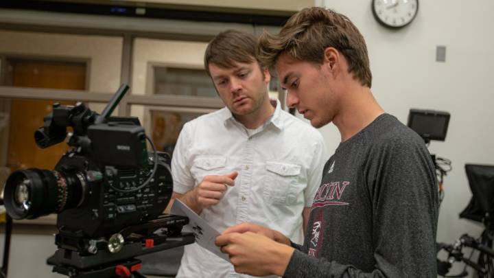
<instances>
[{"instance_id":1,"label":"round white wall clock with black rim at the top edge","mask_svg":"<svg viewBox=\"0 0 494 278\"><path fill-rule=\"evenodd\" d=\"M373 0L373 14L386 27L408 25L419 11L419 0Z\"/></svg>"}]
</instances>

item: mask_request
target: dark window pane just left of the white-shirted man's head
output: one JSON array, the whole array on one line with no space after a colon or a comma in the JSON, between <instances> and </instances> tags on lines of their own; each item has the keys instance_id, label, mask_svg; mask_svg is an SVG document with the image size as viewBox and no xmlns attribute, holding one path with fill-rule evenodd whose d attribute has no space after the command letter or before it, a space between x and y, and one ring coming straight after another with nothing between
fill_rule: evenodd
<instances>
[{"instance_id":1,"label":"dark window pane just left of the white-shirted man's head","mask_svg":"<svg viewBox=\"0 0 494 278\"><path fill-rule=\"evenodd\" d=\"M218 97L204 69L154 67L154 93L191 97Z\"/></svg>"}]
</instances>

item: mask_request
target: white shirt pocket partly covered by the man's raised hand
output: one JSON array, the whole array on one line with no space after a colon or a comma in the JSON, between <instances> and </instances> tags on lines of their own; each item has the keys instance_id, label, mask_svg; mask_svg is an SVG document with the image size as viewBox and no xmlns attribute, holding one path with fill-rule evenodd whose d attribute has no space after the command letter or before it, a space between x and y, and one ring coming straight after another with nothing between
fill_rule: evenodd
<instances>
[{"instance_id":1,"label":"white shirt pocket partly covered by the man's raised hand","mask_svg":"<svg viewBox=\"0 0 494 278\"><path fill-rule=\"evenodd\" d=\"M193 177L198 185L204 176L221 175L225 173L226 157L220 155L207 155L197 157L191 167Z\"/></svg>"}]
</instances>

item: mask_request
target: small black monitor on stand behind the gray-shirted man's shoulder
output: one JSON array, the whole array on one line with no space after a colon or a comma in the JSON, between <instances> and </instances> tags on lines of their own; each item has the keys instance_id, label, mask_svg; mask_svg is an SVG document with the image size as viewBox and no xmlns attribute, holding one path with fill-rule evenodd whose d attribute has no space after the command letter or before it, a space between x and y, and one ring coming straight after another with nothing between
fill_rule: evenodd
<instances>
[{"instance_id":1,"label":"small black monitor on stand behind the gray-shirted man's shoulder","mask_svg":"<svg viewBox=\"0 0 494 278\"><path fill-rule=\"evenodd\" d=\"M449 113L443 111L410 109L408 127L419 133L425 141L444 141L449 117Z\"/></svg>"}]
</instances>

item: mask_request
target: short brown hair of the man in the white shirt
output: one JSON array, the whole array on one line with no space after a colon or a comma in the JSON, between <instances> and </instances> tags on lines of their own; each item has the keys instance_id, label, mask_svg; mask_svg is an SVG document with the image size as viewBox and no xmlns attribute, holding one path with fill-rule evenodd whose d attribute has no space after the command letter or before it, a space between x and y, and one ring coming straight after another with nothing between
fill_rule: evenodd
<instances>
[{"instance_id":1,"label":"short brown hair of the man in the white shirt","mask_svg":"<svg viewBox=\"0 0 494 278\"><path fill-rule=\"evenodd\" d=\"M211 40L204 54L204 67L209 76L209 64L225 69L233 67L233 62L250 63L257 60L257 38L246 32L226 30Z\"/></svg>"}]
</instances>

